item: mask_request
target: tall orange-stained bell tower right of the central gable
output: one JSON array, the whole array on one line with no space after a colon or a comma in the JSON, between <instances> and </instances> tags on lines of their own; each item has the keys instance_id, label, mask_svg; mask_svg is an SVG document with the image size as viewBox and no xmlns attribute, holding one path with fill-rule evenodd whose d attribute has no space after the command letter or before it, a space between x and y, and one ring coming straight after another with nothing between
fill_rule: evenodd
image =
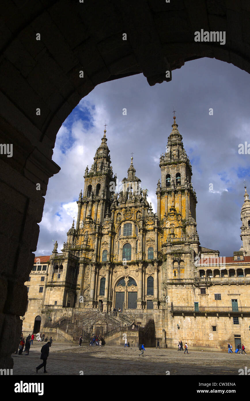
<instances>
[{"instance_id":1,"label":"tall orange-stained bell tower right of the central gable","mask_svg":"<svg viewBox=\"0 0 250 401\"><path fill-rule=\"evenodd\" d=\"M157 215L163 228L161 244L189 243L198 253L196 192L191 183L192 167L173 116L167 151L160 157L161 182L157 184Z\"/></svg>"}]
</instances>

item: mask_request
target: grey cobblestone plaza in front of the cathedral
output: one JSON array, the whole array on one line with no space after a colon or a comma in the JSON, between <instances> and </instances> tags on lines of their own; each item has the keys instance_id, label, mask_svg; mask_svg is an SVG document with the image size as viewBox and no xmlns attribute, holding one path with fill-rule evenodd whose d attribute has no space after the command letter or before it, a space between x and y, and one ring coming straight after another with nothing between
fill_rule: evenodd
<instances>
[{"instance_id":1,"label":"grey cobblestone plaza in front of the cathedral","mask_svg":"<svg viewBox=\"0 0 250 401\"><path fill-rule=\"evenodd\" d=\"M44 377L40 364L40 348L34 343L30 354L12 354L13 375ZM83 344L52 344L47 360L47 375L239 375L238 370L250 366L249 354L145 347L143 356L138 348L123 346L91 347ZM169 372L169 373L168 373Z\"/></svg>"}]
</instances>

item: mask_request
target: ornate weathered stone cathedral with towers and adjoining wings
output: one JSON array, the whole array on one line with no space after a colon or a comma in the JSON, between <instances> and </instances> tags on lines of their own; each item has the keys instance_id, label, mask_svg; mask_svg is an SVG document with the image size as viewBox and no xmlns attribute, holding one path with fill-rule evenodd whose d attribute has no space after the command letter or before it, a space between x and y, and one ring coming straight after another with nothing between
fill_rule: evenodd
<instances>
[{"instance_id":1,"label":"ornate weathered stone cathedral with towers and adjoining wings","mask_svg":"<svg viewBox=\"0 0 250 401\"><path fill-rule=\"evenodd\" d=\"M56 320L69 310L93 308L107 313L121 310L135 324L153 319L162 346L175 346L182 339L194 348L218 349L227 342L250 340L246 188L242 247L233 257L220 257L218 250L199 242L192 167L175 117L159 167L157 213L153 213L147 190L141 189L135 175L133 157L122 190L115 193L116 176L104 131L93 164L85 170L77 221L67 232L61 253L57 242L54 245L43 273L42 301L34 312L35 298L29 299L24 331L32 330L35 314L41 315L45 326L48 311Z\"/></svg>"}]
</instances>

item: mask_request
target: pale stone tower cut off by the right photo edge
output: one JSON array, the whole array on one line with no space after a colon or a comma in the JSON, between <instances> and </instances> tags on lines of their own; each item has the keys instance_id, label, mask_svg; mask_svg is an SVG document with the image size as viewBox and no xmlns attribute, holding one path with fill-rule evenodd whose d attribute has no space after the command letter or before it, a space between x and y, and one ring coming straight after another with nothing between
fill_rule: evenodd
<instances>
[{"instance_id":1,"label":"pale stone tower cut off by the right photo edge","mask_svg":"<svg viewBox=\"0 0 250 401\"><path fill-rule=\"evenodd\" d=\"M246 192L246 185L245 185L245 194L244 194L244 204L241 208L241 213L240 213L241 221L242 221L242 226L241 228L241 234L240 238L242 240L242 247L240 249L243 250L244 255L250 255L250 200L249 200L249 195Z\"/></svg>"}]
</instances>

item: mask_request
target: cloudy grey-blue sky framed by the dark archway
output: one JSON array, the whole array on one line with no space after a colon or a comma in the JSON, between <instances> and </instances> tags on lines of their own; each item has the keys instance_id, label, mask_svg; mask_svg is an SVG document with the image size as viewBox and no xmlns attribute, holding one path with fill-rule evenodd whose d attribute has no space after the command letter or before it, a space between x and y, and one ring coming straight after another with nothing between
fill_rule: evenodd
<instances>
[{"instance_id":1,"label":"cloudy grey-blue sky framed by the dark archway","mask_svg":"<svg viewBox=\"0 0 250 401\"><path fill-rule=\"evenodd\" d=\"M200 243L218 249L220 256L232 256L242 243L244 179L250 192L250 155L238 153L239 144L250 143L249 83L245 71L205 58L173 71L169 83L150 87L140 74L97 86L57 134L53 160L61 170L48 183L36 255L50 255L53 240L59 251L67 240L77 218L83 174L101 144L105 120L114 174L119 181L127 176L133 152L136 175L156 212L159 156L166 149L174 106L192 164Z\"/></svg>"}]
</instances>

